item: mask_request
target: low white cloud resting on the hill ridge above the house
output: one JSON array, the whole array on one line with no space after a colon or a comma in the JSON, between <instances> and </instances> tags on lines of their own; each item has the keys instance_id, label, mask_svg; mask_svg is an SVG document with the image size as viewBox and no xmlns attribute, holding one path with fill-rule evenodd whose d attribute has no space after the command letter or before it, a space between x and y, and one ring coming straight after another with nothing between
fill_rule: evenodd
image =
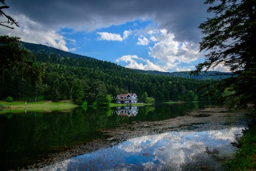
<instances>
[{"instance_id":1,"label":"low white cloud resting on the hill ridge above the house","mask_svg":"<svg viewBox=\"0 0 256 171\"><path fill-rule=\"evenodd\" d=\"M126 68L166 72L166 70L164 70L161 66L154 64L148 59L139 58L137 55L124 55L116 59L116 62L120 61L129 63L125 66ZM145 62L146 64L143 65L141 62Z\"/></svg>"}]
</instances>

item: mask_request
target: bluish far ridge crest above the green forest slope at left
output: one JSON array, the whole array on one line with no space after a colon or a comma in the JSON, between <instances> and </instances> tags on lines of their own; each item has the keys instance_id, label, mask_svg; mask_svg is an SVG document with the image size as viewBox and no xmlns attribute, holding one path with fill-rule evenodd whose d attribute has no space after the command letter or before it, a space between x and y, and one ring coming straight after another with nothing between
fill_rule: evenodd
<instances>
[{"instance_id":1,"label":"bluish far ridge crest above the green forest slope at left","mask_svg":"<svg viewBox=\"0 0 256 171\"><path fill-rule=\"evenodd\" d=\"M88 56L78 55L66 51L62 51L56 48L48 47L45 45L40 44L31 44L29 42L21 41L22 47L32 51L33 53L46 53L46 54L58 54L59 56L67 56L67 57L75 57L75 58L88 58L88 59L95 59ZM98 59L95 59L98 60Z\"/></svg>"}]
</instances>

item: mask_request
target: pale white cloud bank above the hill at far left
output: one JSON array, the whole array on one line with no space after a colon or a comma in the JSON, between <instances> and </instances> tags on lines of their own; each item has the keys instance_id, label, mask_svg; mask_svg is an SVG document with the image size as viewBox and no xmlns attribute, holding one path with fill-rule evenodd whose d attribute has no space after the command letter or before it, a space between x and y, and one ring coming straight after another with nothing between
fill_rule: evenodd
<instances>
[{"instance_id":1,"label":"pale white cloud bank above the hill at far left","mask_svg":"<svg viewBox=\"0 0 256 171\"><path fill-rule=\"evenodd\" d=\"M59 35L56 31L49 30L42 25L33 22L24 15L15 16L15 19L18 20L20 27L15 28L14 30L2 27L0 34L18 36L21 37L22 41L47 45L63 51L69 51L66 46L65 37Z\"/></svg>"}]
</instances>

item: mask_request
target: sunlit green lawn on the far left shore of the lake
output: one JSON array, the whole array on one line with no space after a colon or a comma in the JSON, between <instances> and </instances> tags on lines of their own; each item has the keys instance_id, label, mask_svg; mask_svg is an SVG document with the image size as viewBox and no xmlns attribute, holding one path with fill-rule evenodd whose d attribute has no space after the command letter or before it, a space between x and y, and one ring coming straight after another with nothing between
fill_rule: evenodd
<instances>
[{"instance_id":1,"label":"sunlit green lawn on the far left shore of the lake","mask_svg":"<svg viewBox=\"0 0 256 171\"><path fill-rule=\"evenodd\" d=\"M8 112L24 112L27 111L38 111L38 112L46 112L46 111L61 111L76 108L78 105L72 103L70 100L63 100L58 102L52 101L37 101L37 102L27 102L25 104L24 101L13 101L13 102L6 102L0 101L4 108L0 113L8 113Z\"/></svg>"}]
</instances>

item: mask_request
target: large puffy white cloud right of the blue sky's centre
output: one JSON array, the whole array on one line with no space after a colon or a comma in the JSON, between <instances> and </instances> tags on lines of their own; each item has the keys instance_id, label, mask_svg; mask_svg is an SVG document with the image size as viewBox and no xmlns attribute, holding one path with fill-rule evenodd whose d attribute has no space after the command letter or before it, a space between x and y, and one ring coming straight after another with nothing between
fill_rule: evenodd
<instances>
[{"instance_id":1,"label":"large puffy white cloud right of the blue sky's centre","mask_svg":"<svg viewBox=\"0 0 256 171\"><path fill-rule=\"evenodd\" d=\"M175 35L168 33L165 29L160 30L159 35L152 36L151 39L157 42L150 47L148 54L162 62L165 70L176 68L182 62L190 63L199 58L198 46L175 40Z\"/></svg>"}]
</instances>

